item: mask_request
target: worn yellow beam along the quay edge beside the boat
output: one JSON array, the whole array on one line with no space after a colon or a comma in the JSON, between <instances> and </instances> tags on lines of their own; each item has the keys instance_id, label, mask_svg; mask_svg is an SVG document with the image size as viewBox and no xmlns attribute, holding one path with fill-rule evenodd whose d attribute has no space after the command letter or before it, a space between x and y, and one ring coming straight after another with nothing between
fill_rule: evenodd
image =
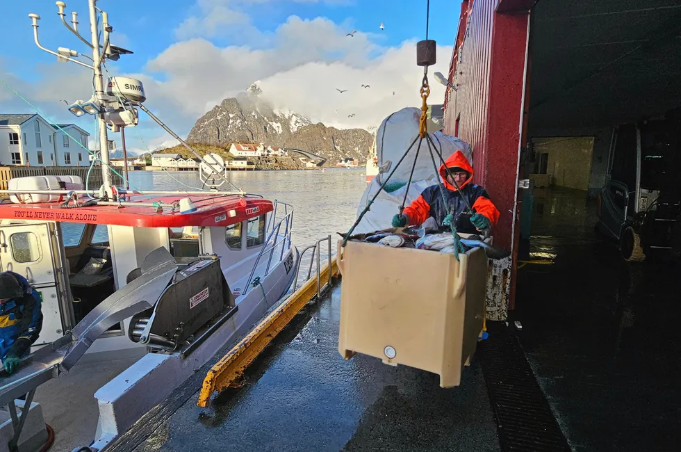
<instances>
[{"instance_id":1,"label":"worn yellow beam along the quay edge beside the boat","mask_svg":"<svg viewBox=\"0 0 681 452\"><path fill-rule=\"evenodd\" d=\"M336 259L331 261L331 275L338 275ZM329 264L321 271L320 284L329 280ZM311 278L300 289L293 292L284 302L270 312L270 314L249 332L236 346L215 363L206 374L204 384L199 394L199 407L207 407L213 392L227 389L235 380L242 376L246 368L258 357L261 351L270 344L274 337L286 328L286 325L295 317L317 294L317 276Z\"/></svg>"}]
</instances>

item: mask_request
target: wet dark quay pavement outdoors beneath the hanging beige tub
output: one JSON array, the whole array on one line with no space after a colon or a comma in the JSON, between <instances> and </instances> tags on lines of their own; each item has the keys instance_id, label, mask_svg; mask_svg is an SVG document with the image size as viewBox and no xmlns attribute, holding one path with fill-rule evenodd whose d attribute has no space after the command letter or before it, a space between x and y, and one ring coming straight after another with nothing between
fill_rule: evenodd
<instances>
[{"instance_id":1,"label":"wet dark quay pavement outdoors beneath the hanging beige tub","mask_svg":"<svg viewBox=\"0 0 681 452\"><path fill-rule=\"evenodd\" d=\"M338 353L340 286L306 308L208 409L192 395L140 444L151 451L497 451L479 362L461 386Z\"/></svg>"}]
</instances>

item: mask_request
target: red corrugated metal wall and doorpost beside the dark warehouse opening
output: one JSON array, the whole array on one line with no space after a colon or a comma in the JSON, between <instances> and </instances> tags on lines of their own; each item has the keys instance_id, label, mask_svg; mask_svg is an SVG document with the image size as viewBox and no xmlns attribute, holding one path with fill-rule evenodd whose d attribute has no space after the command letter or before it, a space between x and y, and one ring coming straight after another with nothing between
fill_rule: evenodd
<instances>
[{"instance_id":1,"label":"red corrugated metal wall and doorpost beside the dark warehouse opening","mask_svg":"<svg viewBox=\"0 0 681 452\"><path fill-rule=\"evenodd\" d=\"M498 13L498 8L520 13ZM512 243L525 75L527 0L464 0L445 99L445 133L473 147L475 182L501 211L496 243ZM502 6L508 8L502 8ZM523 12L523 8L525 8Z\"/></svg>"}]
</instances>

